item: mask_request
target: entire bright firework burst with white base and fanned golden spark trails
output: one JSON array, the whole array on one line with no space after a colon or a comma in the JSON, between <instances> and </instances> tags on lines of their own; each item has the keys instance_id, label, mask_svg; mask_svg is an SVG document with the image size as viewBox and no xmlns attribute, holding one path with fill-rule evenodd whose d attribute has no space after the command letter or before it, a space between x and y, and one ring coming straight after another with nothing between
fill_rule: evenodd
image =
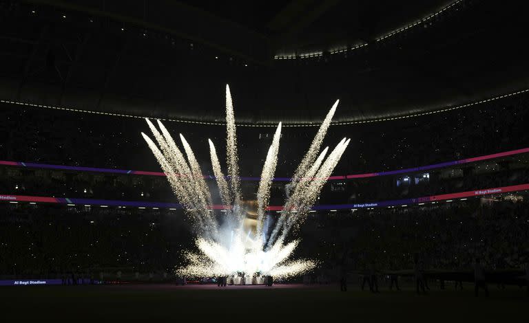
<instances>
[{"instance_id":1,"label":"entire bright firework burst with white base and fanned golden spark trails","mask_svg":"<svg viewBox=\"0 0 529 323\"><path fill-rule=\"evenodd\" d=\"M198 252L185 253L189 265L178 268L176 270L178 274L210 277L242 274L246 277L260 275L285 278L315 267L314 260L289 260L299 240L288 242L287 237L304 221L349 144L349 140L344 138L329 155L327 155L329 147L319 153L337 106L338 100L327 113L309 151L288 184L290 194L278 219L269 219L271 216L267 214L267 208L281 136L281 122L278 124L262 168L257 192L255 230L247 230L244 225L246 213L240 196L236 124L229 87L226 86L227 177L222 172L214 143L209 140L211 165L220 199L225 205L225 210L222 210L225 216L222 224L216 219L212 210L213 203L207 183L184 136L180 134L185 155L159 120L157 123L161 133L147 119L147 124L158 145L145 133L141 135L154 153L167 175L174 194L189 214L191 221L194 221L196 228ZM270 223L272 223L271 227L269 227Z\"/></svg>"}]
</instances>

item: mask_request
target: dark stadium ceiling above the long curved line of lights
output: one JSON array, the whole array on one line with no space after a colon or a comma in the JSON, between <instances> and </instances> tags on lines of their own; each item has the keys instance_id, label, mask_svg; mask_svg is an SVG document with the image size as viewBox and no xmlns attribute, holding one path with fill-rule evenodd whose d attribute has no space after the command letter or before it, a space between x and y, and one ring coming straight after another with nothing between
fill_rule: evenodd
<instances>
[{"instance_id":1,"label":"dark stadium ceiling above the long curved line of lights","mask_svg":"<svg viewBox=\"0 0 529 323\"><path fill-rule=\"evenodd\" d=\"M529 87L520 5L0 1L0 99L216 122L229 83L245 123L433 111Z\"/></svg>"}]
</instances>

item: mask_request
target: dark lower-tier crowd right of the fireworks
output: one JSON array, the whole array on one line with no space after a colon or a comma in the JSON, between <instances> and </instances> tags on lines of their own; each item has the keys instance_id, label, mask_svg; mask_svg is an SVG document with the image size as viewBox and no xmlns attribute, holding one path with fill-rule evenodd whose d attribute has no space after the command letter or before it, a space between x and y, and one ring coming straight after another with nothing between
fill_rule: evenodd
<instances>
[{"instance_id":1,"label":"dark lower-tier crowd right of the fireworks","mask_svg":"<svg viewBox=\"0 0 529 323\"><path fill-rule=\"evenodd\" d=\"M417 258L426 270L470 271L476 258L489 271L521 269L529 263L529 209L518 198L326 214L307 221L304 252L314 248L331 265L345 258L360 272L413 269ZM324 243L311 245L316 236Z\"/></svg>"}]
</instances>

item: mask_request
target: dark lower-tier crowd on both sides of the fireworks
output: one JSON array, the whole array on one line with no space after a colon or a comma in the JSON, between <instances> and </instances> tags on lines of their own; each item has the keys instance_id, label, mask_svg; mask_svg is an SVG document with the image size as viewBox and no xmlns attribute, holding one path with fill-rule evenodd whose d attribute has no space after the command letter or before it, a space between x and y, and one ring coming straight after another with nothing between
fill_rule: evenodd
<instances>
[{"instance_id":1,"label":"dark lower-tier crowd on both sides of the fireworks","mask_svg":"<svg viewBox=\"0 0 529 323\"><path fill-rule=\"evenodd\" d=\"M311 213L291 238L295 257L320 268L470 271L519 269L529 261L529 212L523 195L408 208ZM525 198L527 198L525 196ZM193 249L180 211L0 205L0 274L50 276L64 272L172 272Z\"/></svg>"}]
</instances>

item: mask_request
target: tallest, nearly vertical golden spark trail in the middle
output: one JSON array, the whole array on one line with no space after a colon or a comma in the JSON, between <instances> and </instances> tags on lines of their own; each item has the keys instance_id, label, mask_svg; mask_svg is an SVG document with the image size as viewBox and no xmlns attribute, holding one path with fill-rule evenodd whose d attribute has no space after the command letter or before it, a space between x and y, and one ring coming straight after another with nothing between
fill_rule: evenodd
<instances>
[{"instance_id":1,"label":"tallest, nearly vertical golden spark trail in the middle","mask_svg":"<svg viewBox=\"0 0 529 323\"><path fill-rule=\"evenodd\" d=\"M237 155L237 135L235 127L234 104L231 100L229 86L226 85L226 155L228 158L228 176L230 177L231 192L234 194L234 204L240 203L239 161Z\"/></svg>"}]
</instances>

